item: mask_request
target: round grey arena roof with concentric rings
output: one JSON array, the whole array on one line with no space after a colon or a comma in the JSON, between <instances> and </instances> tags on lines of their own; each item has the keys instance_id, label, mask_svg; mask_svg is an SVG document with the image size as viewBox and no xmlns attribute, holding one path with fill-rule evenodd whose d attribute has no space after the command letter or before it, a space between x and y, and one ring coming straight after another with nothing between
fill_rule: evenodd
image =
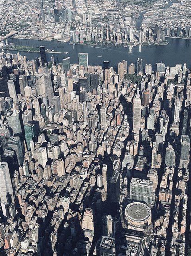
<instances>
[{"instance_id":1,"label":"round grey arena roof with concentric rings","mask_svg":"<svg viewBox=\"0 0 191 256\"><path fill-rule=\"evenodd\" d=\"M144 224L151 220L150 208L141 202L132 202L125 208L125 218L127 222Z\"/></svg>"}]
</instances>

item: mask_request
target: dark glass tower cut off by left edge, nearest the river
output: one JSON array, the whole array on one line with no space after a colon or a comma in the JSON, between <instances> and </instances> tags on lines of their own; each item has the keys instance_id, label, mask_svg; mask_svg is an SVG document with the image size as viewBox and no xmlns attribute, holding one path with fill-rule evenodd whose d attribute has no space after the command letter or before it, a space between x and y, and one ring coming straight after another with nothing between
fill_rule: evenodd
<instances>
[{"instance_id":1,"label":"dark glass tower cut off by left edge, nearest the river","mask_svg":"<svg viewBox=\"0 0 191 256\"><path fill-rule=\"evenodd\" d=\"M0 57L0 97L9 97L8 75L5 61Z\"/></svg>"}]
</instances>

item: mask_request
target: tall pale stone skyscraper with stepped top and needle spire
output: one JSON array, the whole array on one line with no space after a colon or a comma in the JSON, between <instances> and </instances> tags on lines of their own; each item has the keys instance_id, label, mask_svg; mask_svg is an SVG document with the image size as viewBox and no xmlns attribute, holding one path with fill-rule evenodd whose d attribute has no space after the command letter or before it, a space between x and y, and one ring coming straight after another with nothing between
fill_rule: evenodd
<instances>
[{"instance_id":1,"label":"tall pale stone skyscraper with stepped top and needle spire","mask_svg":"<svg viewBox=\"0 0 191 256\"><path fill-rule=\"evenodd\" d=\"M141 98L139 88L137 86L137 93L133 101L133 131L139 135L141 121Z\"/></svg>"}]
</instances>

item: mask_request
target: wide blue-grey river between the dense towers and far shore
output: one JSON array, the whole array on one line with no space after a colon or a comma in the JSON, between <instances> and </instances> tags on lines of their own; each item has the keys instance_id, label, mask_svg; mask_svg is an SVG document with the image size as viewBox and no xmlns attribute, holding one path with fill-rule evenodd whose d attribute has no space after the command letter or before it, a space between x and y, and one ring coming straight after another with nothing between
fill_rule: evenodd
<instances>
[{"instance_id":1,"label":"wide blue-grey river between the dense towers and far shore","mask_svg":"<svg viewBox=\"0 0 191 256\"><path fill-rule=\"evenodd\" d=\"M40 41L10 38L9 41L14 42L16 45L39 47L44 45L46 49L55 50L57 52L68 52L68 54L54 54L53 52L47 53L47 59L51 62L52 54L58 57L59 62L63 58L70 56L71 64L78 63L78 53L88 53L89 65L102 65L103 61L110 61L110 66L117 68L117 64L122 60L127 61L127 65L135 63L137 58L143 59L143 65L151 63L153 70L155 70L156 62L164 62L165 66L175 66L176 64L187 64L191 68L191 40L180 38L167 38L168 45L146 45L134 46L132 52L129 54L129 46L123 47L121 45L72 45L69 43L57 41ZM17 53L17 50L10 50L11 53ZM19 51L21 55L26 55L29 60L39 57L40 53ZM102 56L102 57L97 57Z\"/></svg>"}]
</instances>

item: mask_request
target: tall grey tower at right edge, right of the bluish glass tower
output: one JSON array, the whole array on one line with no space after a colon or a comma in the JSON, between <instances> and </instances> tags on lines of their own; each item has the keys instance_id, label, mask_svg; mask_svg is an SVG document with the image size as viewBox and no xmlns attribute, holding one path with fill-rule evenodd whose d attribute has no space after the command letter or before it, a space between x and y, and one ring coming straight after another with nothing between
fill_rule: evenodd
<instances>
[{"instance_id":1,"label":"tall grey tower at right edge, right of the bluish glass tower","mask_svg":"<svg viewBox=\"0 0 191 256\"><path fill-rule=\"evenodd\" d=\"M179 168L188 168L189 157L190 157L190 139L189 136L183 135L181 138L181 153Z\"/></svg>"}]
</instances>

